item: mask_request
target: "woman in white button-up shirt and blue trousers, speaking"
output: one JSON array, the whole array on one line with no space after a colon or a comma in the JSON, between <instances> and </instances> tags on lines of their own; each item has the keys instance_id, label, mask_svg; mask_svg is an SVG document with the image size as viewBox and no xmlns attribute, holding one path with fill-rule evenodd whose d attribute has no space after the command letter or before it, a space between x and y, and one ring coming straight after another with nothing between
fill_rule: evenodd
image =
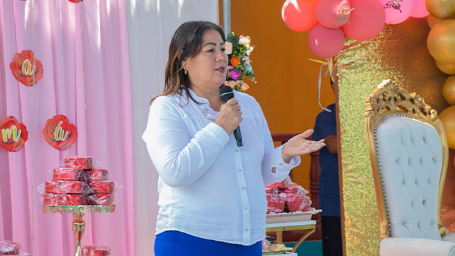
<instances>
[{"instance_id":1,"label":"woman in white button-up shirt and blue trousers, speaking","mask_svg":"<svg viewBox=\"0 0 455 256\"><path fill-rule=\"evenodd\" d=\"M155 255L262 255L265 185L325 146L309 129L274 148L259 104L234 91L223 103L225 37L188 21L171 39L164 91L151 100L142 138L159 174ZM241 127L243 146L232 131Z\"/></svg>"}]
</instances>

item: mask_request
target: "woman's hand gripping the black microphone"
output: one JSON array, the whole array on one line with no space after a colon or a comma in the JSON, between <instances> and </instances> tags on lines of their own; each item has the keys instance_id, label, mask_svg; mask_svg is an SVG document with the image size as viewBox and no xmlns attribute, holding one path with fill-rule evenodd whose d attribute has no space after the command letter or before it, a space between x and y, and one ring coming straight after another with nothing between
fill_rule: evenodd
<instances>
[{"instance_id":1,"label":"woman's hand gripping the black microphone","mask_svg":"<svg viewBox=\"0 0 455 256\"><path fill-rule=\"evenodd\" d=\"M220 112L215 119L216 125L221 126L227 134L237 129L240 122L243 120L241 117L241 110L239 100L232 98L225 104L221 105Z\"/></svg>"}]
</instances>

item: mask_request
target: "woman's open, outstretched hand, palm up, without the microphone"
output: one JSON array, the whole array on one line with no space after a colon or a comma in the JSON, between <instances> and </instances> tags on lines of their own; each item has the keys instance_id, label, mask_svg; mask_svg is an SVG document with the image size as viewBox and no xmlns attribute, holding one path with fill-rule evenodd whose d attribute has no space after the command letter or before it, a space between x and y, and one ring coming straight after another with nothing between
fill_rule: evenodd
<instances>
[{"instance_id":1,"label":"woman's open, outstretched hand, palm up, without the microphone","mask_svg":"<svg viewBox=\"0 0 455 256\"><path fill-rule=\"evenodd\" d=\"M293 136L284 144L281 153L284 162L289 163L294 156L310 154L325 146L324 139L319 141L307 140L313 134L313 131L313 129L304 131L302 134Z\"/></svg>"}]
</instances>

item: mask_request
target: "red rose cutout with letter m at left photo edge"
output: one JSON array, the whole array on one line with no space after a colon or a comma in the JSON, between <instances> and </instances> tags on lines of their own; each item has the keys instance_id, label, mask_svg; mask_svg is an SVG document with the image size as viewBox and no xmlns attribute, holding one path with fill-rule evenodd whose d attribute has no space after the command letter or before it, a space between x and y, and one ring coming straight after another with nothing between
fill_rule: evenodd
<instances>
[{"instance_id":1,"label":"red rose cutout with letter m at left photo edge","mask_svg":"<svg viewBox=\"0 0 455 256\"><path fill-rule=\"evenodd\" d=\"M0 121L0 133L0 147L9 152L21 150L28 139L27 127L12 116L7 116Z\"/></svg>"}]
</instances>

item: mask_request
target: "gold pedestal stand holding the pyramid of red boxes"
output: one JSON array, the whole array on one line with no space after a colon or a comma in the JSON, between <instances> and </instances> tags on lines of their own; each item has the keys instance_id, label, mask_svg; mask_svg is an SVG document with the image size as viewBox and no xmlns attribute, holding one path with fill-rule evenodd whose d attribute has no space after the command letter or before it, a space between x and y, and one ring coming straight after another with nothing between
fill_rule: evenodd
<instances>
[{"instance_id":1,"label":"gold pedestal stand holding the pyramid of red boxes","mask_svg":"<svg viewBox=\"0 0 455 256\"><path fill-rule=\"evenodd\" d=\"M83 217L86 213L114 212L115 205L43 205L44 213L72 213L74 215L73 232L76 237L76 252L74 256L82 256L80 241L85 230Z\"/></svg>"}]
</instances>

